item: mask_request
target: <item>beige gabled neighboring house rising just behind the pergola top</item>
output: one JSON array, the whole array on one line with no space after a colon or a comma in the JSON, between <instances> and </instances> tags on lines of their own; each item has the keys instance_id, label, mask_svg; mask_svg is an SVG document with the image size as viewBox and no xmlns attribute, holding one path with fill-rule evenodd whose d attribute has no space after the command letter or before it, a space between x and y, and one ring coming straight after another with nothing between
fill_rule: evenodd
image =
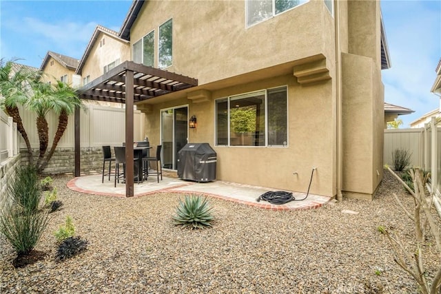
<instances>
[{"instance_id":1,"label":"beige gabled neighboring house rising just behind the pergola top","mask_svg":"<svg viewBox=\"0 0 441 294\"><path fill-rule=\"evenodd\" d=\"M129 59L130 42L119 38L114 30L96 25L75 73L81 76L83 86Z\"/></svg>"}]
</instances>

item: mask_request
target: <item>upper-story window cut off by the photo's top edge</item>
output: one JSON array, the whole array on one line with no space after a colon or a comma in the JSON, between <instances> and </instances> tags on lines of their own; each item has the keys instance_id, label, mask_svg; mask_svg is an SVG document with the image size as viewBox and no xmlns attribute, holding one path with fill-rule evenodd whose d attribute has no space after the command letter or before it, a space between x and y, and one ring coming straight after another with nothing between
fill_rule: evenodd
<instances>
[{"instance_id":1,"label":"upper-story window cut off by the photo's top edge","mask_svg":"<svg viewBox=\"0 0 441 294\"><path fill-rule=\"evenodd\" d=\"M247 27L265 21L309 0L246 0Z\"/></svg>"}]
</instances>

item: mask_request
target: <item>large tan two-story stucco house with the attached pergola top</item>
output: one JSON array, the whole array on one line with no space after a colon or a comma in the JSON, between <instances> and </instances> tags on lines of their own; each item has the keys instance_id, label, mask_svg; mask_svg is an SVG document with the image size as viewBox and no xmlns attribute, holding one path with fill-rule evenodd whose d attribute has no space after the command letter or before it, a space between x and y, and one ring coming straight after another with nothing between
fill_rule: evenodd
<instances>
[{"instance_id":1,"label":"large tan two-story stucco house with the attached pergola top","mask_svg":"<svg viewBox=\"0 0 441 294\"><path fill-rule=\"evenodd\" d=\"M310 193L375 195L390 67L380 1L134 1L119 34L132 61L160 69L129 72L164 167L186 143L209 143L218 180L306 193L316 168ZM81 97L123 99L127 74L110 76Z\"/></svg>"}]
</instances>

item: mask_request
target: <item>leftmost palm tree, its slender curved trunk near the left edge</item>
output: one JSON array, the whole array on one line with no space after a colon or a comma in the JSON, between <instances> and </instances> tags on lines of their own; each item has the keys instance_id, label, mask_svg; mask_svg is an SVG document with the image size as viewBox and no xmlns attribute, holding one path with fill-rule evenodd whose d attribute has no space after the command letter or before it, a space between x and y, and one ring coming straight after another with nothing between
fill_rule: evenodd
<instances>
[{"instance_id":1,"label":"leftmost palm tree, its slender curved trunk near the left edge","mask_svg":"<svg viewBox=\"0 0 441 294\"><path fill-rule=\"evenodd\" d=\"M28 134L23 127L18 105L24 105L30 95L30 84L36 81L40 72L30 70L22 65L14 68L13 61L0 60L0 107L17 123L17 129L25 141L28 149L29 162L32 164L32 147Z\"/></svg>"}]
</instances>

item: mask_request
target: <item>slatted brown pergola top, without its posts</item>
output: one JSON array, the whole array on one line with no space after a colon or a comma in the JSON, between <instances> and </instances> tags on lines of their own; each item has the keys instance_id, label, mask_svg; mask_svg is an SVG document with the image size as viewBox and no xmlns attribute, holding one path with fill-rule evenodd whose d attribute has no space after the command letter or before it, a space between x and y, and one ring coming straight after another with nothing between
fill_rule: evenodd
<instances>
[{"instance_id":1,"label":"slatted brown pergola top, without its posts","mask_svg":"<svg viewBox=\"0 0 441 294\"><path fill-rule=\"evenodd\" d=\"M127 72L133 78L127 80ZM198 80L174 72L125 61L79 89L81 99L125 103L126 83L132 87L133 102L195 87Z\"/></svg>"}]
</instances>

